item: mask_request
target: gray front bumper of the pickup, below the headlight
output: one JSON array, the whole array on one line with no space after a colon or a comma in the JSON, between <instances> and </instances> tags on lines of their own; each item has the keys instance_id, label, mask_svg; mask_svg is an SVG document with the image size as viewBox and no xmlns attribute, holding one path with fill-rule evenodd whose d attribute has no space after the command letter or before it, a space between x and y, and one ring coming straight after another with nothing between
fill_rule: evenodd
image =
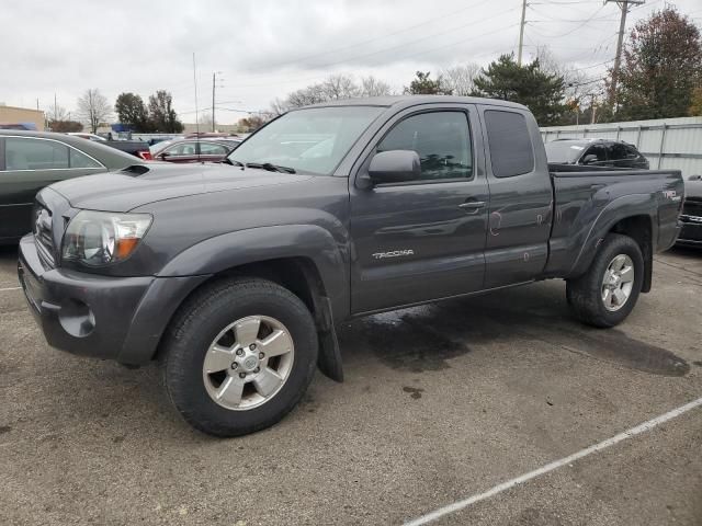
<instances>
[{"instance_id":1,"label":"gray front bumper of the pickup, below the headlight","mask_svg":"<svg viewBox=\"0 0 702 526\"><path fill-rule=\"evenodd\" d=\"M208 277L111 277L45 268L31 235L20 241L18 275L50 346L129 365L152 358L178 306Z\"/></svg>"}]
</instances>

